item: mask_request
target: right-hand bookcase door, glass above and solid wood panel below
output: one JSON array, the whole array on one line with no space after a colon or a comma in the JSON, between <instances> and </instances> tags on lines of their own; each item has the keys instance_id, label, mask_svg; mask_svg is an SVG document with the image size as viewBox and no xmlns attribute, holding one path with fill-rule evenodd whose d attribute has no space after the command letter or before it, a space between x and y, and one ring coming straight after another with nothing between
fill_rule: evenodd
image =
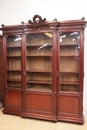
<instances>
[{"instance_id":1,"label":"right-hand bookcase door, glass above and solid wood panel below","mask_svg":"<svg viewBox=\"0 0 87 130\"><path fill-rule=\"evenodd\" d=\"M80 56L81 32L70 31L59 34L59 83L58 83L58 118L79 118L80 97Z\"/></svg>"}]
</instances>

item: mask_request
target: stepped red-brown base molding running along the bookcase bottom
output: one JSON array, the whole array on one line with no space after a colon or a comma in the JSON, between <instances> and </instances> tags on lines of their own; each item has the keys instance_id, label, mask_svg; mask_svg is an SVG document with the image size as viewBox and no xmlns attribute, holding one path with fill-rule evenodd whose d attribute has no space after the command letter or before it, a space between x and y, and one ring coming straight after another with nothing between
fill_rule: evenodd
<instances>
[{"instance_id":1,"label":"stepped red-brown base molding running along the bookcase bottom","mask_svg":"<svg viewBox=\"0 0 87 130\"><path fill-rule=\"evenodd\" d=\"M49 120L53 122L58 121L66 121L66 122L73 122L73 123L79 123L84 124L84 115L79 118L74 117L63 117L63 116L54 116L54 115L40 115L40 114L34 114L29 112L23 112L23 110L16 110L16 109L3 109L4 114L13 114L13 115L20 115L22 118L33 118L33 119L41 119L41 120Z\"/></svg>"}]
</instances>

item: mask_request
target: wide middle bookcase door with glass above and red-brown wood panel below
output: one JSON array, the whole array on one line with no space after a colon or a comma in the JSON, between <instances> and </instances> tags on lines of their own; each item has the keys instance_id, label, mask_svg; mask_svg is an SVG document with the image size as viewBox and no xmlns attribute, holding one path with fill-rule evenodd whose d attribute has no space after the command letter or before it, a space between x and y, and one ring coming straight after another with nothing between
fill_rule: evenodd
<instances>
[{"instance_id":1,"label":"wide middle bookcase door with glass above and red-brown wood panel below","mask_svg":"<svg viewBox=\"0 0 87 130\"><path fill-rule=\"evenodd\" d=\"M33 114L38 113L45 115L45 119L51 116L56 120L54 116L56 93L54 93L53 77L54 69L56 69L53 63L53 47L56 44L54 35L56 34L26 35L26 87L23 116L29 113L28 117L32 117Z\"/></svg>"}]
</instances>

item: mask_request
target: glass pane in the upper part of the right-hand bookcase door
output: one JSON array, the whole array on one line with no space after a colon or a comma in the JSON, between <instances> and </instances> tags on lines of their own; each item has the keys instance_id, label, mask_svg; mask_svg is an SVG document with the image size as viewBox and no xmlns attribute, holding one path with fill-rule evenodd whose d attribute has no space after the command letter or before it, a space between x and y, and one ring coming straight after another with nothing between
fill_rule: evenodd
<instances>
[{"instance_id":1,"label":"glass pane in the upper part of the right-hand bookcase door","mask_svg":"<svg viewBox=\"0 0 87 130\"><path fill-rule=\"evenodd\" d=\"M79 91L80 34L60 34L60 91Z\"/></svg>"}]
</instances>

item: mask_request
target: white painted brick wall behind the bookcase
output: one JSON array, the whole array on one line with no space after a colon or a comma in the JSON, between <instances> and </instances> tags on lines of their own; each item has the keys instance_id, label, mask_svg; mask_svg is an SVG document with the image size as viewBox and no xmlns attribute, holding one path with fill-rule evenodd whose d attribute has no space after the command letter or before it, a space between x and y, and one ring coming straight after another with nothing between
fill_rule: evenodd
<instances>
[{"instance_id":1,"label":"white painted brick wall behind the bookcase","mask_svg":"<svg viewBox=\"0 0 87 130\"><path fill-rule=\"evenodd\" d=\"M81 19L87 21L87 0L0 0L0 25L27 23L35 14L47 21ZM1 32L0 32L1 33ZM87 118L87 28L84 41L84 98L83 110Z\"/></svg>"}]
</instances>

